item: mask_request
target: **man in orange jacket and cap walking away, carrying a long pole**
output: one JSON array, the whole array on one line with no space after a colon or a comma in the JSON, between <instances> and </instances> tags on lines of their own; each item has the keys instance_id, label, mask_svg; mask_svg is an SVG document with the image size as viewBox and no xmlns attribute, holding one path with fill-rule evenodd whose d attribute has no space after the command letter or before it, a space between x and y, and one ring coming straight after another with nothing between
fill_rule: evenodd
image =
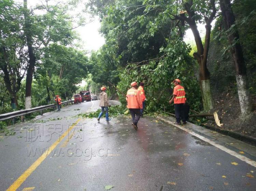
<instances>
[{"instance_id":1,"label":"man in orange jacket and cap walking away, carrying a long pole","mask_svg":"<svg viewBox=\"0 0 256 191\"><path fill-rule=\"evenodd\" d=\"M127 108L130 110L132 118L132 126L134 129L138 129L137 123L140 120L141 112L143 108L140 91L137 90L137 82L131 83L131 89L126 93Z\"/></svg>"}]
</instances>

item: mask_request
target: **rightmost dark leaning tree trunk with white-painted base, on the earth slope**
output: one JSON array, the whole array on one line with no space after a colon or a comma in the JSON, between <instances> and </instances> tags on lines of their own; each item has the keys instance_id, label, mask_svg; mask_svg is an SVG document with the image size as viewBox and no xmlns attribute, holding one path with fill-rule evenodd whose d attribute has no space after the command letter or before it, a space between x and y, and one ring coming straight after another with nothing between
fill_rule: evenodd
<instances>
[{"instance_id":1,"label":"rightmost dark leaning tree trunk with white-painted base, on the earth slope","mask_svg":"<svg viewBox=\"0 0 256 191\"><path fill-rule=\"evenodd\" d=\"M230 0L220 0L220 5L224 20L224 26L226 30L228 30L233 24L235 24L236 21L231 8ZM234 27L232 31L228 31L228 40L231 46L234 44L234 46L231 47L231 55L236 67L237 90L241 108L241 115L245 116L252 112L252 106L250 103L250 93L248 90L248 80L246 75L246 66L244 62L243 51L239 42L239 33L236 27Z\"/></svg>"}]
</instances>

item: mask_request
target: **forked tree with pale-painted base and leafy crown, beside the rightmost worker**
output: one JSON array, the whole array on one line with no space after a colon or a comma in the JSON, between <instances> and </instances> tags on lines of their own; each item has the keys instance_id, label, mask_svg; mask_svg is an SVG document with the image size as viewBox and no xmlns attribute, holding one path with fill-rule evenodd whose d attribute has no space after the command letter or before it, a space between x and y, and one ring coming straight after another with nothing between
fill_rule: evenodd
<instances>
[{"instance_id":1,"label":"forked tree with pale-painted base and leafy crown, beside the rightmost worker","mask_svg":"<svg viewBox=\"0 0 256 191\"><path fill-rule=\"evenodd\" d=\"M145 0L147 5L146 11L158 10L160 19L170 17L172 20L177 20L176 25L180 25L181 29L187 25L194 35L197 52L193 54L199 65L199 84L205 110L214 108L213 97L210 87L210 73L207 69L207 58L210 45L211 23L216 17L215 0L188 0L186 2L180 0L165 1L165 0ZM156 19L159 20L159 19ZM200 33L197 29L197 23L205 23L205 40L202 43ZM155 22L156 23L156 22ZM156 26L153 25L155 28ZM182 30L180 31L182 33ZM181 35L183 36L183 35Z\"/></svg>"}]
</instances>

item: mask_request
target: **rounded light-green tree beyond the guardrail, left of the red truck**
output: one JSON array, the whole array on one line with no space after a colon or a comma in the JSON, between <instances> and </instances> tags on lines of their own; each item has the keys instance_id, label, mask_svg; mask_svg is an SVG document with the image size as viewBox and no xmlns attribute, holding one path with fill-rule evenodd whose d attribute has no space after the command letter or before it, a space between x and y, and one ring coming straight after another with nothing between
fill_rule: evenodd
<instances>
[{"instance_id":1,"label":"rounded light-green tree beyond the guardrail, left of the red truck","mask_svg":"<svg viewBox=\"0 0 256 191\"><path fill-rule=\"evenodd\" d=\"M63 99L70 98L77 89L75 84L88 74L86 52L56 43L45 47L43 52L36 79L45 81L42 85L46 87L47 96L51 91L60 94Z\"/></svg>"}]
</instances>

